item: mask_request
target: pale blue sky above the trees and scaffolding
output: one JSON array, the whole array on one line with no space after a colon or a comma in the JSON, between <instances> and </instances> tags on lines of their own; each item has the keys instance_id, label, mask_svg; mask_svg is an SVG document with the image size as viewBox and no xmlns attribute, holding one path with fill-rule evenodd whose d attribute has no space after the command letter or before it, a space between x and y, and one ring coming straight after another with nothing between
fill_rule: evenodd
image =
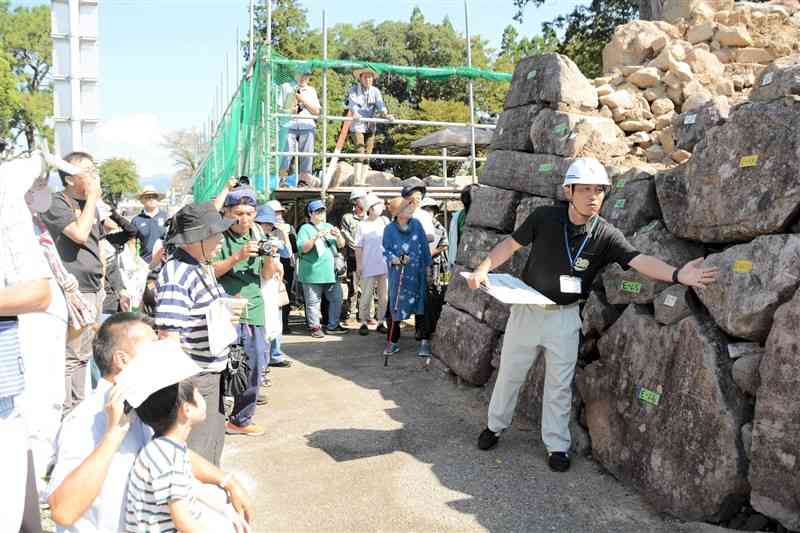
<instances>
[{"instance_id":1,"label":"pale blue sky above the trees and scaffolding","mask_svg":"<svg viewBox=\"0 0 800 533\"><path fill-rule=\"evenodd\" d=\"M256 0L261 2L262 0ZM549 0L526 8L520 34L535 35L541 23L570 12L578 0ZM11 6L49 4L11 0ZM414 6L425 18L449 16L464 32L463 0L301 0L312 27L408 20ZM470 32L499 48L503 29L516 24L512 0L470 0ZM211 110L226 53L235 61L237 26L248 31L249 0L99 0L101 125L99 159L133 159L143 178L172 175L163 135L202 127ZM466 53L466 52L465 52ZM465 57L466 63L466 57Z\"/></svg>"}]
</instances>

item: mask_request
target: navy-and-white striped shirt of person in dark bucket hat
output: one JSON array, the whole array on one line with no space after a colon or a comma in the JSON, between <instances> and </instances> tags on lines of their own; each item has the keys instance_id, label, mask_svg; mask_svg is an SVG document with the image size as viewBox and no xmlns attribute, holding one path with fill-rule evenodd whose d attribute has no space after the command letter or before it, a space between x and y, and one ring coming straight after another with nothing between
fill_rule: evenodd
<instances>
[{"instance_id":1,"label":"navy-and-white striped shirt of person in dark bucket hat","mask_svg":"<svg viewBox=\"0 0 800 533\"><path fill-rule=\"evenodd\" d=\"M156 327L177 332L183 351L206 373L222 372L228 361L227 348L212 355L206 321L211 302L224 296L213 273L180 249L161 269L156 282Z\"/></svg>"}]
</instances>

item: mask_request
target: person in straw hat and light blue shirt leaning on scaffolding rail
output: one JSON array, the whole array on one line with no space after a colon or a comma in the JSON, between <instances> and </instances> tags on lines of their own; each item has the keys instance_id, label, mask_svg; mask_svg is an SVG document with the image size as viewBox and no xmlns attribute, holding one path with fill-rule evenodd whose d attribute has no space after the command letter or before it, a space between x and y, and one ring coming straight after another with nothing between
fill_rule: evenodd
<instances>
[{"instance_id":1,"label":"person in straw hat and light blue shirt leaning on scaffolding rail","mask_svg":"<svg viewBox=\"0 0 800 533\"><path fill-rule=\"evenodd\" d=\"M358 80L358 83L350 87L350 91L347 93L347 108L353 117L353 124L350 126L350 137L353 144L356 145L357 153L370 155L375 147L376 124L359 119L382 117L394 120L394 116L389 114L380 90L373 85L375 78L378 77L378 73L375 70L369 67L356 69L353 71L353 76ZM368 169L368 159L359 159L356 162L355 175L353 177L355 185L364 185Z\"/></svg>"}]
</instances>

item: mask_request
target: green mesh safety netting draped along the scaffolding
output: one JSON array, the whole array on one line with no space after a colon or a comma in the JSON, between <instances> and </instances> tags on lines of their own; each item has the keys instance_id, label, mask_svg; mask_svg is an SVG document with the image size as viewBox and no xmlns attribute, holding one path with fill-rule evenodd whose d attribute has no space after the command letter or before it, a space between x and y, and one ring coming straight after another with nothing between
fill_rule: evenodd
<instances>
[{"instance_id":1,"label":"green mesh safety netting draped along the scaffolding","mask_svg":"<svg viewBox=\"0 0 800 533\"><path fill-rule=\"evenodd\" d=\"M258 51L256 58L248 74L242 77L239 89L219 124L213 127L208 154L195 176L192 188L196 202L212 200L232 176L249 176L251 183L264 195L269 195L278 186L279 161L272 154L284 147L286 130L281 126L290 119L275 117L273 113L289 111L291 106L287 104L287 95L293 94L291 84L294 75L302 69L354 70L370 67L381 74L393 73L410 80L453 76L491 81L511 80L511 74L507 72L465 66L430 68L366 61L301 61L287 59L276 53L269 57L263 50ZM319 96L322 100L322 94ZM293 184L292 177L288 178L288 184Z\"/></svg>"}]
</instances>

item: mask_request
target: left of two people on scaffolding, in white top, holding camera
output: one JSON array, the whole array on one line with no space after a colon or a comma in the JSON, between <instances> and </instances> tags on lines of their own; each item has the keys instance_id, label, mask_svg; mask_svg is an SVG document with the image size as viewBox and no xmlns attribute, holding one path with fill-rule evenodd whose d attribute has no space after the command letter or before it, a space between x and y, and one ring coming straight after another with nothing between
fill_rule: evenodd
<instances>
[{"instance_id":1,"label":"left of two people on scaffolding, in white top, holding camera","mask_svg":"<svg viewBox=\"0 0 800 533\"><path fill-rule=\"evenodd\" d=\"M285 152L314 152L314 129L317 127L313 117L319 116L321 106L317 91L308 84L311 79L311 70L302 67L295 74L295 80L281 85L280 98L283 110L292 115L302 115L308 118L292 118L283 128L286 129ZM280 176L289 175L289 169L296 156L285 155L281 158ZM297 185L300 187L317 187L319 179L311 174L314 157L312 155L299 156Z\"/></svg>"}]
</instances>

